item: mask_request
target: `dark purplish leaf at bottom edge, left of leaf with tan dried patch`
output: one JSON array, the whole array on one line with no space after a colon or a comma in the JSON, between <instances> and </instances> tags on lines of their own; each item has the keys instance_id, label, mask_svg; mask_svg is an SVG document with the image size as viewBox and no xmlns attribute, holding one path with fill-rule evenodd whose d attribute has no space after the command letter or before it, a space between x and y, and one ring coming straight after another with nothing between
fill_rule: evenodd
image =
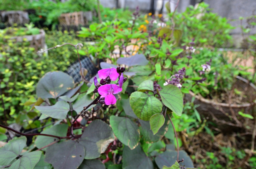
<instances>
[{"instance_id":1,"label":"dark purplish leaf at bottom edge, left of leaf with tan dried patch","mask_svg":"<svg viewBox=\"0 0 256 169\"><path fill-rule=\"evenodd\" d=\"M84 156L84 146L74 140L67 140L47 147L44 161L52 164L55 169L76 169L83 162Z\"/></svg>"}]
</instances>

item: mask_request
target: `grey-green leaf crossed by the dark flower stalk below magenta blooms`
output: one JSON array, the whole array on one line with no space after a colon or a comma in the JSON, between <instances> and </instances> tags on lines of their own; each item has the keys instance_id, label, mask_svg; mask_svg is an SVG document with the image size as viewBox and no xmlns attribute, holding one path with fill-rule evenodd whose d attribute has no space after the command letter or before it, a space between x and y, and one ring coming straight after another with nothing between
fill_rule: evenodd
<instances>
[{"instance_id":1,"label":"grey-green leaf crossed by the dark flower stalk below magenta blooms","mask_svg":"<svg viewBox=\"0 0 256 169\"><path fill-rule=\"evenodd\" d=\"M73 105L72 108L74 111L79 113L84 109L84 106L89 105L93 100L88 95L84 95L82 98L78 99ZM95 104L91 105L87 110L93 108Z\"/></svg>"}]
</instances>

